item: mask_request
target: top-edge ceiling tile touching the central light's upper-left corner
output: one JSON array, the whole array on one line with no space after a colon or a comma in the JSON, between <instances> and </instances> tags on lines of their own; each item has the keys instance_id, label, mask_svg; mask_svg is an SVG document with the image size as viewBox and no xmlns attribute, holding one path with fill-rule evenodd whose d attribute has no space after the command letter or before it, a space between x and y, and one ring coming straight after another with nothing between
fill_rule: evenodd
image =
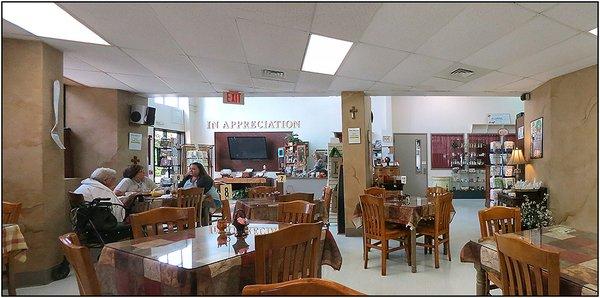
<instances>
[{"instance_id":1,"label":"top-edge ceiling tile touching the central light's upper-left corner","mask_svg":"<svg viewBox=\"0 0 600 298\"><path fill-rule=\"evenodd\" d=\"M304 31L310 30L315 11L314 3L238 3L235 7L240 18Z\"/></svg>"}]
</instances>

